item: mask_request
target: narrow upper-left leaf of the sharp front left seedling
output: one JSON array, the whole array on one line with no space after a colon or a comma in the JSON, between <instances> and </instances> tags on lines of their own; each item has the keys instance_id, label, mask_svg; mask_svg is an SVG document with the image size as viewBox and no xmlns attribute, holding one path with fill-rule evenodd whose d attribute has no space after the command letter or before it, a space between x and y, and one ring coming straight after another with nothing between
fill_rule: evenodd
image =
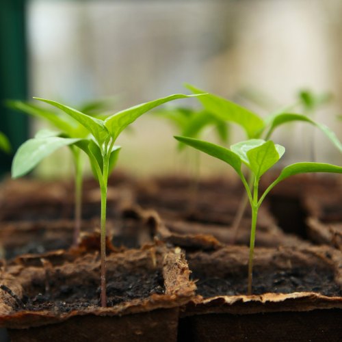
<instances>
[{"instance_id":1,"label":"narrow upper-left leaf of the sharp front left seedling","mask_svg":"<svg viewBox=\"0 0 342 342\"><path fill-rule=\"evenodd\" d=\"M92 135L94 135L95 139L97 140L98 144L102 144L108 137L107 129L105 128L105 124L102 120L97 118L92 118L92 116L88 116L86 114L81 113L77 109L68 107L66 105L62 105L62 103L58 103L51 100L46 100L44 98L34 97L36 100L49 103L49 105L53 105L59 109L62 109L64 113L73 117L77 122L82 124Z\"/></svg>"}]
</instances>

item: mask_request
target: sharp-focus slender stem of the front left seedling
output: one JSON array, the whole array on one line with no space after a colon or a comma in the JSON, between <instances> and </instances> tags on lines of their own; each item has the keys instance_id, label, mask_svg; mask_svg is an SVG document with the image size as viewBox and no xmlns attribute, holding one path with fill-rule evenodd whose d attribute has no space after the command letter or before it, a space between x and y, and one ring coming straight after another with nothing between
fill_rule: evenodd
<instances>
[{"instance_id":1,"label":"sharp-focus slender stem of the front left seedling","mask_svg":"<svg viewBox=\"0 0 342 342\"><path fill-rule=\"evenodd\" d=\"M109 157L103 157L103 182L101 184L101 306L107 306L106 295L106 209Z\"/></svg>"}]
</instances>

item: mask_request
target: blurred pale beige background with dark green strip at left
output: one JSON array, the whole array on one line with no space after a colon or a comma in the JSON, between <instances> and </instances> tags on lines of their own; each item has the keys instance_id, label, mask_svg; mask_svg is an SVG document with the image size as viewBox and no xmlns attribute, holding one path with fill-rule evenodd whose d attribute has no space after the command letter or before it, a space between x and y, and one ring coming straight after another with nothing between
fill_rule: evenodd
<instances>
[{"instance_id":1,"label":"blurred pale beige background with dark green strip at left","mask_svg":"<svg viewBox=\"0 0 342 342\"><path fill-rule=\"evenodd\" d=\"M15 152L40 127L3 105L8 98L49 98L77 107L111 98L111 112L185 92L183 83L229 98L266 116L298 101L309 89L333 94L315 120L342 139L341 0L42 1L1 5L1 122ZM195 99L169 106L200 107ZM189 151L177 153L167 121L146 114L120 135L118 167L137 176L187 172ZM231 127L230 143L241 139ZM215 142L209 129L202 138ZM341 165L341 153L317 129L289 124L275 142L287 148L283 163ZM72 172L68 152L45 160L36 174ZM191 157L190 157L191 158ZM11 157L1 153L1 172ZM203 175L226 166L201 157Z\"/></svg>"}]
</instances>

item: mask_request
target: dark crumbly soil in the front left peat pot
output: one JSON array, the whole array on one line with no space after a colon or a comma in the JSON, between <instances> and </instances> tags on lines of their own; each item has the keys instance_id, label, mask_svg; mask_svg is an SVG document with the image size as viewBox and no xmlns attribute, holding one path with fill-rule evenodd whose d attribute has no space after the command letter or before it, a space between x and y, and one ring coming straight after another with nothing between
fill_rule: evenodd
<instances>
[{"instance_id":1,"label":"dark crumbly soil in the front left peat pot","mask_svg":"<svg viewBox=\"0 0 342 342\"><path fill-rule=\"evenodd\" d=\"M73 310L82 310L89 306L100 305L99 279L87 284L67 285L62 275L57 276L56 282L33 282L29 293L23 299L16 299L17 311L49 310L58 313L69 313ZM64 285L60 285L63 284ZM10 289L4 289L10 295ZM163 276L159 270L111 275L107 279L107 306L115 306L133 299L148 298L151 294L163 294ZM12 295L13 296L13 295Z\"/></svg>"}]
</instances>

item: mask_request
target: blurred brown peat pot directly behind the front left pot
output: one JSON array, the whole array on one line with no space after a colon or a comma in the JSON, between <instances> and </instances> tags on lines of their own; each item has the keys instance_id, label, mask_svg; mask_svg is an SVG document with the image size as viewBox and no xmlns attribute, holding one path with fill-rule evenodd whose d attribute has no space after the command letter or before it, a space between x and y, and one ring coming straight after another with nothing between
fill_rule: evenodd
<instances>
[{"instance_id":1,"label":"blurred brown peat pot directly behind the front left pot","mask_svg":"<svg viewBox=\"0 0 342 342\"><path fill-rule=\"evenodd\" d=\"M107 220L107 234L116 247L139 248L153 241L155 224L157 221L150 220L148 213L126 207L116 213L116 218ZM99 218L83 220L81 237L99 226ZM1 257L12 259L19 254L67 250L73 244L74 229L73 220L0 222Z\"/></svg>"}]
</instances>

